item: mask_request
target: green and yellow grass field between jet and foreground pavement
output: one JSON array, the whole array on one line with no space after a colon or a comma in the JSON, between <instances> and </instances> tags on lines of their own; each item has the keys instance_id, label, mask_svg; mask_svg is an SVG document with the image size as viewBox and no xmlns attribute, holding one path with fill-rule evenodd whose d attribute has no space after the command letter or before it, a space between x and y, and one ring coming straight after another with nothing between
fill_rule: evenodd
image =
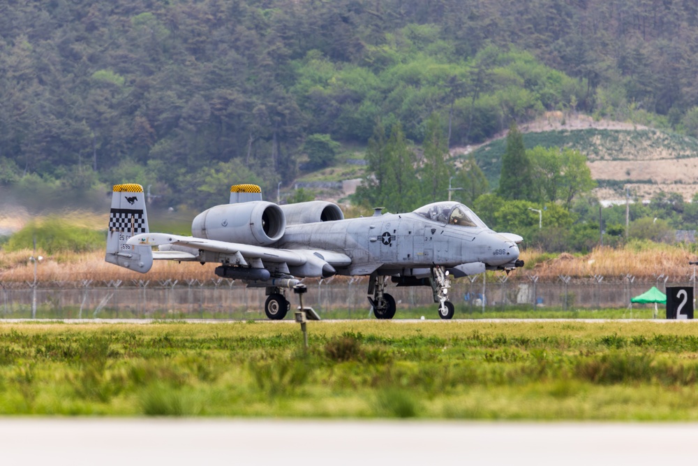
<instances>
[{"instance_id":1,"label":"green and yellow grass field between jet and foreground pavement","mask_svg":"<svg viewBox=\"0 0 698 466\"><path fill-rule=\"evenodd\" d=\"M698 419L692 322L0 325L0 414Z\"/></svg>"}]
</instances>

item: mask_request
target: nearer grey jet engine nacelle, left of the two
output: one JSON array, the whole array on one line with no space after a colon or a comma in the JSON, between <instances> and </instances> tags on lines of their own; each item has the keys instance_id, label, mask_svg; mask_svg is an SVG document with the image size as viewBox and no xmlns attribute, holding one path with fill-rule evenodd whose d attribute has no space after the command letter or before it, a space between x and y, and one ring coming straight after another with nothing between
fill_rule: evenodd
<instances>
[{"instance_id":1,"label":"nearer grey jet engine nacelle, left of the two","mask_svg":"<svg viewBox=\"0 0 698 466\"><path fill-rule=\"evenodd\" d=\"M191 222L191 234L197 238L257 246L278 241L285 229L281 208L264 201L216 205Z\"/></svg>"}]
</instances>

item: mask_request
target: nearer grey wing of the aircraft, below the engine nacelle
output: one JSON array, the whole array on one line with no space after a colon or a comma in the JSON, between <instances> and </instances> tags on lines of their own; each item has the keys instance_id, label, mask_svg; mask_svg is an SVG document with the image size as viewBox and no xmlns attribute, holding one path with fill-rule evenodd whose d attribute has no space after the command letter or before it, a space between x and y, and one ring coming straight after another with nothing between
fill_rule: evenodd
<instances>
[{"instance_id":1,"label":"nearer grey wing of the aircraft, below the engine nacelle","mask_svg":"<svg viewBox=\"0 0 698 466\"><path fill-rule=\"evenodd\" d=\"M194 238L193 236L170 235L168 233L142 233L135 235L127 241L134 246L161 246L177 245L202 249L204 251L230 254L239 259L261 259L265 262L286 263L291 267L304 265L309 261L318 259L329 265L346 267L350 265L351 258L346 254L320 249L276 249L273 247L244 245L237 242L207 240ZM154 259L192 260L193 254L178 251L153 252Z\"/></svg>"}]
</instances>

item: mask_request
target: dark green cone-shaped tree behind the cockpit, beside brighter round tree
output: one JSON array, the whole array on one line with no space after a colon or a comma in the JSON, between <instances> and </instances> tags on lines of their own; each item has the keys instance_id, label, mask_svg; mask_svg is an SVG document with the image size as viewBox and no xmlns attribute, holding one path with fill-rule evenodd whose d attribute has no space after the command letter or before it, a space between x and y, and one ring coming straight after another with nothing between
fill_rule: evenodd
<instances>
[{"instance_id":1,"label":"dark green cone-shaped tree behind the cockpit, beside brighter round tree","mask_svg":"<svg viewBox=\"0 0 698 466\"><path fill-rule=\"evenodd\" d=\"M505 199L528 200L533 192L533 170L523 147L523 136L516 122L507 133L507 149L502 156L498 194Z\"/></svg>"}]
</instances>

